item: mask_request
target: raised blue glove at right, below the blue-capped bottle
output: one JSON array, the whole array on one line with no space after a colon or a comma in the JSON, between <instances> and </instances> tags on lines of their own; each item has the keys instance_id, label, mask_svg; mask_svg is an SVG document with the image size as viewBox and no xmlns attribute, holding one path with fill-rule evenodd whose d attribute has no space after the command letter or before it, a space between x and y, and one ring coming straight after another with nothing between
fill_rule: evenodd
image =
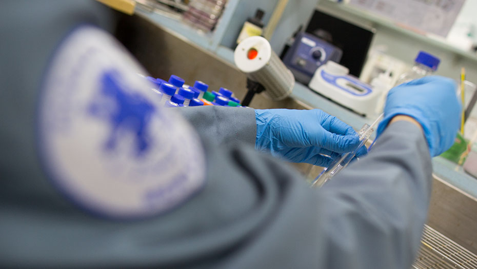
<instances>
[{"instance_id":1,"label":"raised blue glove at right, below the blue-capped bottle","mask_svg":"<svg viewBox=\"0 0 477 269\"><path fill-rule=\"evenodd\" d=\"M408 115L421 124L431 156L443 153L452 146L459 129L461 105L455 89L454 80L441 76L426 76L394 87L388 93L377 136L394 116Z\"/></svg>"}]
</instances>

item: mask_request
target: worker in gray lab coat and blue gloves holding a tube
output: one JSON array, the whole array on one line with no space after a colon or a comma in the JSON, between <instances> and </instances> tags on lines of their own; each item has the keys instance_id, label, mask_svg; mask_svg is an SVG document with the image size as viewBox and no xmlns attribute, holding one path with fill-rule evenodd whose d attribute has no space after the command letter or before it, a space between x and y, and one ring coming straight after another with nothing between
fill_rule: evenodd
<instances>
[{"instance_id":1,"label":"worker in gray lab coat and blue gloves holding a tube","mask_svg":"<svg viewBox=\"0 0 477 269\"><path fill-rule=\"evenodd\" d=\"M2 2L0 267L410 267L458 129L451 79L392 89L372 150L313 189L283 159L326 167L349 126L164 109L109 22L97 2Z\"/></svg>"}]
</instances>

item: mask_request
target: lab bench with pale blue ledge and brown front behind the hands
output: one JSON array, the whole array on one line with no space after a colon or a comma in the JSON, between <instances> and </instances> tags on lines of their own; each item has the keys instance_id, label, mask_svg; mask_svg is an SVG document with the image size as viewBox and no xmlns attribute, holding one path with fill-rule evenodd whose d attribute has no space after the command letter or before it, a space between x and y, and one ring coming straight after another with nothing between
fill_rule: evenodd
<instances>
[{"instance_id":1,"label":"lab bench with pale blue ledge and brown front behind the hands","mask_svg":"<svg viewBox=\"0 0 477 269\"><path fill-rule=\"evenodd\" d=\"M191 29L184 30L185 26L179 21L148 12L137 12L133 16L118 13L117 16L116 37L152 76L167 78L176 74L186 81L203 80L211 89L229 88L237 98L245 96L246 76L234 66L233 50L220 45L216 36L197 35ZM295 83L290 98L271 101L259 94L250 106L260 109L319 108L355 130L374 120L357 115L299 82ZM474 231L477 227L477 179L442 157L433 158L432 163L434 183L427 223L477 253L477 233ZM299 164L297 168L308 177L319 173L309 164Z\"/></svg>"}]
</instances>

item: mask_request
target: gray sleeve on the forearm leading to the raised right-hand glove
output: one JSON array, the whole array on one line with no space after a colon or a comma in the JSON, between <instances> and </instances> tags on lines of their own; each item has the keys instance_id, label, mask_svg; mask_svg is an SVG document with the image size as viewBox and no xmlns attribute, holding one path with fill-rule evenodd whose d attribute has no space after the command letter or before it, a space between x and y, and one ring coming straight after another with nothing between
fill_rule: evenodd
<instances>
[{"instance_id":1,"label":"gray sleeve on the forearm leading to the raised right-hand glove","mask_svg":"<svg viewBox=\"0 0 477 269\"><path fill-rule=\"evenodd\" d=\"M328 268L410 268L427 216L432 164L412 123L393 123L369 156L325 185L319 200ZM346 257L346 258L345 258Z\"/></svg>"}]
</instances>

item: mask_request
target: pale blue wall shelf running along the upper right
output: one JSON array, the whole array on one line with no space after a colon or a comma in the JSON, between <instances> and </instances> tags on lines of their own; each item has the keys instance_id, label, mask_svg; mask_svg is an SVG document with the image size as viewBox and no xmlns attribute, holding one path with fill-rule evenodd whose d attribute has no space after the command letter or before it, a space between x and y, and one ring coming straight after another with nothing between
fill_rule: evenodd
<instances>
[{"instance_id":1,"label":"pale blue wall shelf running along the upper right","mask_svg":"<svg viewBox=\"0 0 477 269\"><path fill-rule=\"evenodd\" d=\"M326 13L330 13L333 16L337 16L345 20L350 20L349 15L356 16L358 18L366 20L367 22L375 24L373 26L375 28L377 28L377 26L383 26L388 29L392 29L394 31L397 31L405 35L411 36L415 39L418 39L423 43L427 43L434 47L438 47L442 50L452 52L454 54L465 57L469 60L475 61L477 63L477 54L472 53L470 51L462 50L460 48L456 48L448 44L445 41L445 39L440 36L434 36L431 34L425 35L422 33L414 32L410 29L401 27L400 25L392 22L390 19L384 16L376 15L364 9L353 7L348 4L333 3L330 1L321 1L319 5L317 5L317 9L319 9L320 11L324 11Z\"/></svg>"}]
</instances>

